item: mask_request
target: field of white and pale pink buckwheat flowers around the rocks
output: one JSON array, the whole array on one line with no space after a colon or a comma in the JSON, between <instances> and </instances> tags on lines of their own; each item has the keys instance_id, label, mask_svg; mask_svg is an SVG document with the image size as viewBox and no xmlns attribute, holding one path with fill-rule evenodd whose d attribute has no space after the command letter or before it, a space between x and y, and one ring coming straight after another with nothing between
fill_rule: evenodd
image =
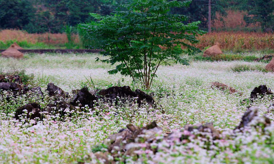
<instances>
[{"instance_id":1,"label":"field of white and pale pink buckwheat flowers around the rocks","mask_svg":"<svg viewBox=\"0 0 274 164\"><path fill-rule=\"evenodd\" d=\"M242 55L254 54L263 56L259 52ZM259 85L274 89L274 73L263 71L264 62L189 58L189 66L159 67L158 78L147 93L156 106L122 102L117 97L116 103L99 99L93 107L66 108L62 116L47 115L41 121L28 119L27 113L14 118L17 108L28 103L36 102L41 109L63 100L70 103L70 99L56 101L49 95L50 82L70 96L90 77L100 89L138 88L130 77L109 75L107 71L114 67L95 62L96 57L25 54L22 60L0 58L0 71L25 70L34 75L29 87L40 86L44 93L43 97L31 92L12 97L1 91L0 164L274 163L273 96L258 95L249 101ZM250 69L235 71L239 66ZM211 87L215 81L238 92Z\"/></svg>"}]
</instances>

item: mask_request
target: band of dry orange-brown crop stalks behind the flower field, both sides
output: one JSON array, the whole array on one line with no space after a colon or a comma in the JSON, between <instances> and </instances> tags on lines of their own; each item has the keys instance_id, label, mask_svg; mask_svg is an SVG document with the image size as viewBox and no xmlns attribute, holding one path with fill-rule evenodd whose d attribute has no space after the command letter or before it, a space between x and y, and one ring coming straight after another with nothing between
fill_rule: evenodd
<instances>
[{"instance_id":1,"label":"band of dry orange-brown crop stalks behind the flower field, both sides","mask_svg":"<svg viewBox=\"0 0 274 164\"><path fill-rule=\"evenodd\" d=\"M79 43L77 35L74 35L74 43ZM274 48L274 35L271 33L255 32L212 32L198 38L200 43L196 47L204 49L215 43L220 43L223 50L264 50ZM66 34L28 34L20 30L0 31L0 41L7 40L27 41L35 44L43 42L49 45L67 43Z\"/></svg>"}]
</instances>

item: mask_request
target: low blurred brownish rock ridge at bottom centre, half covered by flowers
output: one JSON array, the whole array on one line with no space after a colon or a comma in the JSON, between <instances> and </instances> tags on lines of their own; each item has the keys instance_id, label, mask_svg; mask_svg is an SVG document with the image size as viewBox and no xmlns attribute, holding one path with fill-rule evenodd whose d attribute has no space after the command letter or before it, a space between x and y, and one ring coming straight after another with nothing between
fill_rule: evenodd
<instances>
[{"instance_id":1,"label":"low blurred brownish rock ridge at bottom centre, half covered by flowers","mask_svg":"<svg viewBox=\"0 0 274 164\"><path fill-rule=\"evenodd\" d=\"M138 157L138 153L142 149L156 153L174 144L191 142L191 139L198 137L203 138L203 142L207 142L207 140L217 140L220 136L220 132L213 127L212 123L186 125L182 130L170 134L163 133L156 122L142 128L132 124L128 124L126 127L126 129L121 129L118 133L104 140L103 145L108 147L107 152L96 152L94 155L98 159L103 159L105 163L114 163L115 161L106 157L108 155L111 155L113 159L126 156ZM211 137L208 138L208 136ZM156 143L164 143L165 147L155 146Z\"/></svg>"}]
</instances>

